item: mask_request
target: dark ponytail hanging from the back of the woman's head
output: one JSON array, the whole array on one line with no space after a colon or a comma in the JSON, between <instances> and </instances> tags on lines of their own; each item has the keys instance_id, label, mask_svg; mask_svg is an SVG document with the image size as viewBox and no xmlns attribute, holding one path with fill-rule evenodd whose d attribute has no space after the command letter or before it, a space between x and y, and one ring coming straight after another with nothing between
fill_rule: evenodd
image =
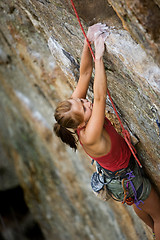
<instances>
[{"instance_id":1,"label":"dark ponytail hanging from the back of the woman's head","mask_svg":"<svg viewBox=\"0 0 160 240\"><path fill-rule=\"evenodd\" d=\"M75 151L77 150L77 140L74 136L75 133L71 132L67 128L61 126L58 123L54 124L53 130L57 137L60 137L62 142L68 144L71 148L73 148Z\"/></svg>"}]
</instances>

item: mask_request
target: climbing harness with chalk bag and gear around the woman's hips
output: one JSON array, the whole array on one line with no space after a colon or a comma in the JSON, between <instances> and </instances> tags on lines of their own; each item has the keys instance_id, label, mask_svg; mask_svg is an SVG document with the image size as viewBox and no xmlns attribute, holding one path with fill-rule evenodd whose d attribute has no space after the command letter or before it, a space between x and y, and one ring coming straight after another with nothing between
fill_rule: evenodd
<instances>
[{"instance_id":1,"label":"climbing harness with chalk bag and gear around the woman's hips","mask_svg":"<svg viewBox=\"0 0 160 240\"><path fill-rule=\"evenodd\" d=\"M92 163L93 162L94 161L92 160ZM101 167L101 165L98 162L96 162L97 171L94 172L91 177L92 190L96 193L100 193L102 189L105 189L107 191L105 200L108 200L110 197L112 197L114 200L122 202L122 204L124 203L126 203L127 205L135 204L137 208L139 208L138 205L140 203L143 203L143 201L138 200L143 191L143 182L139 184L136 190L132 182L132 180L135 178L135 175L133 174L135 164L137 163L134 162L134 159L132 157L127 168L123 168L121 170L112 172ZM117 199L114 196L114 192L112 193L107 187L107 185L109 185L113 180L118 181L119 184L122 185L124 192L124 198L122 201ZM129 185L131 186L131 188L129 188Z\"/></svg>"}]
</instances>

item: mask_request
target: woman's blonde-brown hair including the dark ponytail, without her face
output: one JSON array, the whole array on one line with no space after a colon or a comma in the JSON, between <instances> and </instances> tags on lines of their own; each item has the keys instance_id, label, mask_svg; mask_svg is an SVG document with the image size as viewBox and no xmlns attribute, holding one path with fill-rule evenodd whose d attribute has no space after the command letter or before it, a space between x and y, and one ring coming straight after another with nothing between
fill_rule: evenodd
<instances>
[{"instance_id":1,"label":"woman's blonde-brown hair including the dark ponytail, without her face","mask_svg":"<svg viewBox=\"0 0 160 240\"><path fill-rule=\"evenodd\" d=\"M75 130L83 122L83 116L71 111L72 104L69 101L60 102L55 109L54 132L61 140L71 148L77 149L77 136ZM69 130L72 129L73 131Z\"/></svg>"}]
</instances>

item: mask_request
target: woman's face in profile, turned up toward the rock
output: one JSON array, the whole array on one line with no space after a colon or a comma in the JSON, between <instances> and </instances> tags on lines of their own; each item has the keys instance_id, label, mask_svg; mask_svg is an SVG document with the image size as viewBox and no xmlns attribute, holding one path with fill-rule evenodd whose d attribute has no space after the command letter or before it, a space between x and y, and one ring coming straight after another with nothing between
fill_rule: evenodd
<instances>
[{"instance_id":1,"label":"woman's face in profile, turned up toward the rock","mask_svg":"<svg viewBox=\"0 0 160 240\"><path fill-rule=\"evenodd\" d=\"M81 113L84 122L88 122L92 114L92 103L83 98L70 99L69 102L72 104L71 111Z\"/></svg>"}]
</instances>

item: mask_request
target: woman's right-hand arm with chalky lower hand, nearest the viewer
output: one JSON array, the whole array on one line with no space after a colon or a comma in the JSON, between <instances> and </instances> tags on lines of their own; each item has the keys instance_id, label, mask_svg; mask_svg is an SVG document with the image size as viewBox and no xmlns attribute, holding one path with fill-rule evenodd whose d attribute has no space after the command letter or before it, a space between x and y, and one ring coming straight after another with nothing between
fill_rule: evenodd
<instances>
[{"instance_id":1,"label":"woman's right-hand arm with chalky lower hand, nearest the viewer","mask_svg":"<svg viewBox=\"0 0 160 240\"><path fill-rule=\"evenodd\" d=\"M86 144L96 144L102 138L105 117L105 104L107 92L107 77L103 63L104 39L99 36L95 41L95 79L94 79L94 103L92 115L84 132ZM83 141L82 139L82 141Z\"/></svg>"}]
</instances>

